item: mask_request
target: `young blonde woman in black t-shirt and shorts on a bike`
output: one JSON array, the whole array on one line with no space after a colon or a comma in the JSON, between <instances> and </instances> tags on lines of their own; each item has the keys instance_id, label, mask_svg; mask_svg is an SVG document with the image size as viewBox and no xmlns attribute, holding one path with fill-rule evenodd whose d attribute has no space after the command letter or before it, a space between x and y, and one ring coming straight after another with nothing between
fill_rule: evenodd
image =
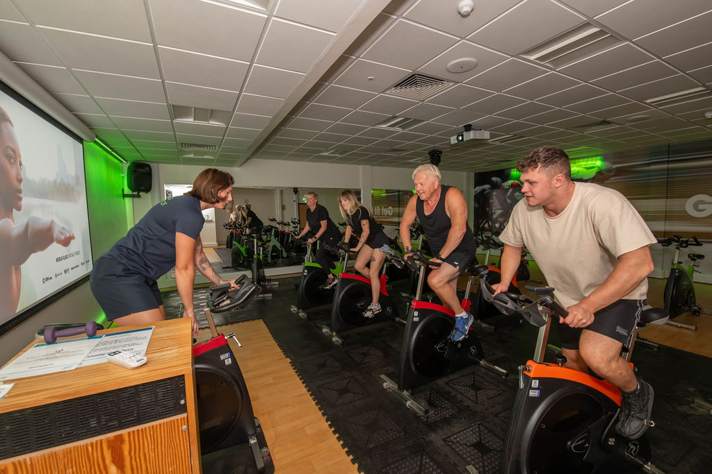
<instances>
[{"instance_id":1,"label":"young blonde woman in black t-shirt and shorts on a bike","mask_svg":"<svg viewBox=\"0 0 712 474\"><path fill-rule=\"evenodd\" d=\"M358 244L352 249L358 252L354 267L371 281L372 301L363 316L373 318L381 312L381 305L378 303L381 293L379 273L386 259L386 254L379 252L379 249L387 245L389 239L384 234L383 227L376 222L368 208L359 203L352 190L342 191L339 195L339 204L341 215L346 220L344 242L349 241L352 232L356 235L360 234Z\"/></svg>"}]
</instances>

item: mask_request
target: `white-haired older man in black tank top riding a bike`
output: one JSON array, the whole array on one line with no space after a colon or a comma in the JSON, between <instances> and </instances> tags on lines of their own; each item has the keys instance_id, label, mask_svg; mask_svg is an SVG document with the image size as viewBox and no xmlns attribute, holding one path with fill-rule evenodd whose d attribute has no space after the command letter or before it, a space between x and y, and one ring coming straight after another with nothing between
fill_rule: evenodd
<instances>
[{"instance_id":1,"label":"white-haired older man in black tank top riding a bike","mask_svg":"<svg viewBox=\"0 0 712 474\"><path fill-rule=\"evenodd\" d=\"M467 203L461 191L441 185L439 169L422 165L413 171L417 195L406 206L400 235L406 254L410 249L410 225L418 217L435 257L441 266L430 272L428 284L440 301L455 313L455 328L450 338L461 340L473 322L457 298L457 278L475 259L476 245L467 225Z\"/></svg>"}]
</instances>

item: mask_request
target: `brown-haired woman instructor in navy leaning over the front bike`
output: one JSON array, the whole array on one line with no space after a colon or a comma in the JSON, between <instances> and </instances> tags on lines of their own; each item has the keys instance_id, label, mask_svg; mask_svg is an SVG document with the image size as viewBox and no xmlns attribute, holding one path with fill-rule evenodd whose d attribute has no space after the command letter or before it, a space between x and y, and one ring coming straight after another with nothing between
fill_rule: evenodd
<instances>
[{"instance_id":1,"label":"brown-haired woman instructor in navy leaning over the front bike","mask_svg":"<svg viewBox=\"0 0 712 474\"><path fill-rule=\"evenodd\" d=\"M234 179L229 173L208 168L199 173L193 188L153 206L125 237L94 264L90 286L94 297L116 325L153 323L166 318L160 276L175 267L176 286L183 317L190 318L193 333L198 322L193 303L195 269L213 284L224 280L208 261L200 239L206 209L225 209L232 200Z\"/></svg>"}]
</instances>

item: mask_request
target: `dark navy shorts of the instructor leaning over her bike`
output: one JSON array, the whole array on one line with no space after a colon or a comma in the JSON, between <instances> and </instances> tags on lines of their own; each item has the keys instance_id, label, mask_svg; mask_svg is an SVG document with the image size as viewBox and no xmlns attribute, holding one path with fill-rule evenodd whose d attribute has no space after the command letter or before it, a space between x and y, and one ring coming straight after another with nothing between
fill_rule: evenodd
<instances>
[{"instance_id":1,"label":"dark navy shorts of the instructor leaning over her bike","mask_svg":"<svg viewBox=\"0 0 712 474\"><path fill-rule=\"evenodd\" d=\"M109 320L156 309L163 304L154 280L111 257L100 257L94 262L89 284Z\"/></svg>"}]
</instances>

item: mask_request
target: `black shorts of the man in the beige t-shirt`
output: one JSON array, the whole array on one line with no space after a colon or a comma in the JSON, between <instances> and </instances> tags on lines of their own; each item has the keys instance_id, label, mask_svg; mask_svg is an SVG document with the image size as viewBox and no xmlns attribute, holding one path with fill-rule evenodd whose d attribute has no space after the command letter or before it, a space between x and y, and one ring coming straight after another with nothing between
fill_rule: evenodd
<instances>
[{"instance_id":1,"label":"black shorts of the man in the beige t-shirt","mask_svg":"<svg viewBox=\"0 0 712 474\"><path fill-rule=\"evenodd\" d=\"M578 350L581 330L587 329L630 346L632 335L640 320L644 300L618 300L594 313L593 323L585 328L572 328L559 323L559 338L564 349Z\"/></svg>"}]
</instances>

